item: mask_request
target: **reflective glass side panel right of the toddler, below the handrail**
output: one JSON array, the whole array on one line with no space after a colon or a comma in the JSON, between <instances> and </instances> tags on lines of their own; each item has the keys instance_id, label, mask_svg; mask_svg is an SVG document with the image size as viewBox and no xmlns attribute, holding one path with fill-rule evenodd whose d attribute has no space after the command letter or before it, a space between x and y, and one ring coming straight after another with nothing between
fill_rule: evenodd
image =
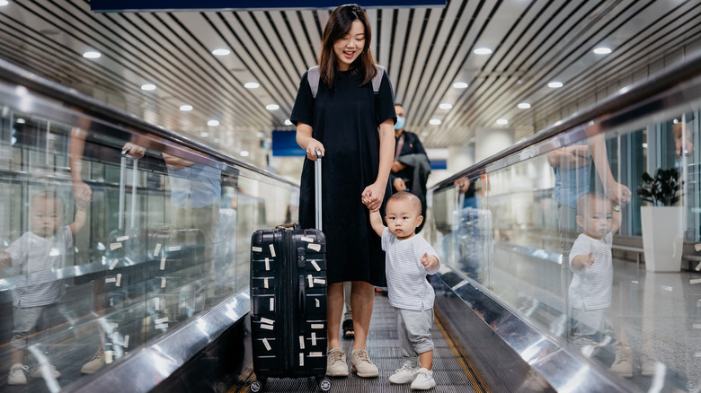
<instances>
[{"instance_id":1,"label":"reflective glass side panel right of the toddler, below the handrail","mask_svg":"<svg viewBox=\"0 0 701 393\"><path fill-rule=\"evenodd\" d=\"M446 265L614 378L695 391L701 103L690 105L592 122L434 190L428 237Z\"/></svg>"}]
</instances>

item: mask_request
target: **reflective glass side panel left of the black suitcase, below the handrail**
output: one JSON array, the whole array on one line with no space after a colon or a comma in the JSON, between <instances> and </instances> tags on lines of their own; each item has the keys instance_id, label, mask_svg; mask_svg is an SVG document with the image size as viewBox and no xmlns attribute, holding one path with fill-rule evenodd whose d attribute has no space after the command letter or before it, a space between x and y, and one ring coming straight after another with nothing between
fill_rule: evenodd
<instances>
[{"instance_id":1,"label":"reflective glass side panel left of the black suitcase, below the handrail","mask_svg":"<svg viewBox=\"0 0 701 393\"><path fill-rule=\"evenodd\" d=\"M44 362L61 375L31 391L108 370L244 291L253 231L297 220L287 182L46 105L0 102L0 368L28 367L0 385Z\"/></svg>"}]
</instances>

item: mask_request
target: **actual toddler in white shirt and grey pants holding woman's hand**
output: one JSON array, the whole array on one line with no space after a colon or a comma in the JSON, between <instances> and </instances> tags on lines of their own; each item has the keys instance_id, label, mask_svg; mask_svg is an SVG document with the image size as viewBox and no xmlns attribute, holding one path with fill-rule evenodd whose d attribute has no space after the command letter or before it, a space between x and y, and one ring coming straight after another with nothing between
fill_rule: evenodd
<instances>
[{"instance_id":1,"label":"actual toddler in white shirt and grey pants holding woman's hand","mask_svg":"<svg viewBox=\"0 0 701 393\"><path fill-rule=\"evenodd\" d=\"M363 201L367 202L367 201ZM396 309L399 342L404 367L389 377L392 383L412 382L412 389L425 390L436 386L433 380L433 301L436 294L426 275L439 271L436 251L421 235L415 234L423 221L421 201L408 192L398 192L387 200L388 228L379 211L370 212L372 228L382 237L386 251L387 296ZM417 367L416 358L421 363Z\"/></svg>"}]
</instances>

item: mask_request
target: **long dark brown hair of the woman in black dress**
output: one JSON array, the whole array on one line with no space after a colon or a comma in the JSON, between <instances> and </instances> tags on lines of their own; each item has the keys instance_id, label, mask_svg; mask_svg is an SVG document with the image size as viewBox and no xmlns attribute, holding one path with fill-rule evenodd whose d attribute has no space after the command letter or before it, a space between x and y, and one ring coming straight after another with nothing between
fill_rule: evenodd
<instances>
[{"instance_id":1,"label":"long dark brown hair of the woman in black dress","mask_svg":"<svg viewBox=\"0 0 701 393\"><path fill-rule=\"evenodd\" d=\"M338 73L338 60L333 53L333 44L351 31L351 25L355 21L360 21L365 28L365 48L359 57L355 59L349 68L351 74L357 76L363 82L368 83L377 74L375 60L370 53L370 22L368 14L360 8L358 4L346 4L336 7L329 15L329 22L324 28L324 38L322 39L322 54L319 59L319 77L322 83L328 87L333 87L333 81Z\"/></svg>"}]
</instances>

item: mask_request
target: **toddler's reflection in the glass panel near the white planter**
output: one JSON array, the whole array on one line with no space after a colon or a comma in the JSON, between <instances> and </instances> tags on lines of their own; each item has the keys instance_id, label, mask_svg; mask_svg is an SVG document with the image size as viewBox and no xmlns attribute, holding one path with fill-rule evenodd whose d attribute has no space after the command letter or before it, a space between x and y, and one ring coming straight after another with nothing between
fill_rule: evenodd
<instances>
[{"instance_id":1,"label":"toddler's reflection in the glass panel near the white planter","mask_svg":"<svg viewBox=\"0 0 701 393\"><path fill-rule=\"evenodd\" d=\"M607 197L589 193L577 200L577 224L583 230L570 250L574 272L568 296L572 307L574 345L604 345L608 330L606 310L613 287L613 234L621 225L621 213ZM632 376L630 348L617 345L617 361L611 367L622 376Z\"/></svg>"}]
</instances>

